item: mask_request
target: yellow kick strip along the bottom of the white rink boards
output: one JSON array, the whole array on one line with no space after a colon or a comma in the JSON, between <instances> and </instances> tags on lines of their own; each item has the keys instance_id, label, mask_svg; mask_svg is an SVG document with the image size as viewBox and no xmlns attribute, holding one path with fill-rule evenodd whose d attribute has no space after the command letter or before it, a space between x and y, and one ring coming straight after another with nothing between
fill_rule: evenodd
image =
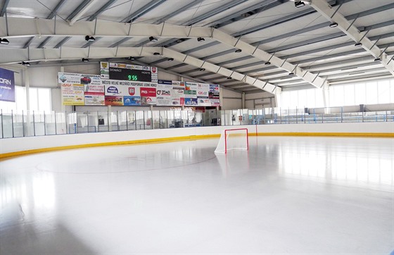
<instances>
[{"instance_id":1,"label":"yellow kick strip along the bottom of the white rink boards","mask_svg":"<svg viewBox=\"0 0 394 255\"><path fill-rule=\"evenodd\" d=\"M345 132L259 132L258 136L305 136L305 137L384 137L394 138L394 133L345 133ZM249 132L249 136L256 136L255 132ZM14 156L23 156L27 154L36 154L47 151L60 151L63 149L80 149L88 147L103 147L103 146L114 146L114 145L125 145L125 144L151 144L151 143L164 143L164 142L178 142L195 139L209 139L220 137L220 134L215 135L189 135L184 137L165 137L155 139L140 139L120 142L102 142L96 144L76 144L61 147L50 147L42 149L30 149L26 151L15 151L5 154L0 154L0 159L10 158Z\"/></svg>"}]
</instances>

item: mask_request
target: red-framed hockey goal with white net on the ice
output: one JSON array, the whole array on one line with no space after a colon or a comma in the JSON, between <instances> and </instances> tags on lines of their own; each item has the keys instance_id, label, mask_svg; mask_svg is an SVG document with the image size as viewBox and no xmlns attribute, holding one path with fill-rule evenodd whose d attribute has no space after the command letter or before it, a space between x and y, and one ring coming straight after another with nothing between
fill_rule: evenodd
<instances>
[{"instance_id":1,"label":"red-framed hockey goal with white net on the ice","mask_svg":"<svg viewBox=\"0 0 394 255\"><path fill-rule=\"evenodd\" d=\"M220 135L220 140L217 143L215 153L227 154L230 150L245 150L249 149L248 129L236 128L223 130Z\"/></svg>"}]
</instances>

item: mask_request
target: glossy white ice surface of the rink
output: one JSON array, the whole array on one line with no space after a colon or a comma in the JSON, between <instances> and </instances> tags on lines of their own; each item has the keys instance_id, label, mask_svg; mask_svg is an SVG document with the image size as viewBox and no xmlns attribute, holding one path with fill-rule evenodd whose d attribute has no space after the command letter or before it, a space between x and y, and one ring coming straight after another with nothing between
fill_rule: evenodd
<instances>
[{"instance_id":1,"label":"glossy white ice surface of the rink","mask_svg":"<svg viewBox=\"0 0 394 255\"><path fill-rule=\"evenodd\" d=\"M250 137L1 161L0 254L390 254L394 139Z\"/></svg>"}]
</instances>

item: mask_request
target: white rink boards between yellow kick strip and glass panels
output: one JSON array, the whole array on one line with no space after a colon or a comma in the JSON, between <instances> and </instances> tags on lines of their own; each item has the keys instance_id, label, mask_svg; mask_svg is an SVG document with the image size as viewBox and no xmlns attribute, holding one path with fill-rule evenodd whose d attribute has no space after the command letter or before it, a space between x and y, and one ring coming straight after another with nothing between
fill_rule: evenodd
<instances>
[{"instance_id":1,"label":"white rink boards between yellow kick strip and glass panels","mask_svg":"<svg viewBox=\"0 0 394 255\"><path fill-rule=\"evenodd\" d=\"M364 133L394 134L394 123L329 123L329 124L288 124L288 125L244 125L216 126L201 128L170 128L163 130L138 130L120 132L101 132L73 135L48 135L39 137L17 137L1 139L0 154L32 149L77 146L81 144L98 144L108 142L127 142L141 139L162 139L168 137L190 137L199 135L218 135L224 129L248 128L250 133Z\"/></svg>"}]
</instances>

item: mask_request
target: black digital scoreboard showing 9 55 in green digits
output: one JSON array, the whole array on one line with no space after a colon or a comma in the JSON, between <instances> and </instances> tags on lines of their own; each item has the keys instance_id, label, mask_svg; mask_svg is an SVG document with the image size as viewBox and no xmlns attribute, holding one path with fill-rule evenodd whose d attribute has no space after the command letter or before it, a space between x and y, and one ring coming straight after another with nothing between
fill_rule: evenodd
<instances>
[{"instance_id":1,"label":"black digital scoreboard showing 9 55 in green digits","mask_svg":"<svg viewBox=\"0 0 394 255\"><path fill-rule=\"evenodd\" d=\"M152 82L150 70L138 70L128 68L109 68L110 80L131 80L134 82Z\"/></svg>"}]
</instances>

